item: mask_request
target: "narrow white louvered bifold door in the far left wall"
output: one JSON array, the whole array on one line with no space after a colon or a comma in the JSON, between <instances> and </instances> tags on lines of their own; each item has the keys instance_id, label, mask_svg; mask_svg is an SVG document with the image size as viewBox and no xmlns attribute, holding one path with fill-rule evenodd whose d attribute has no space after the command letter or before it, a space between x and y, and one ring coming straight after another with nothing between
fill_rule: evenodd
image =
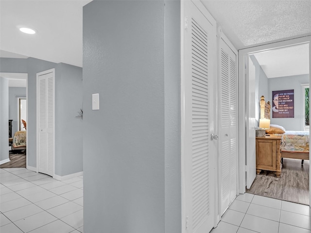
<instances>
[{"instance_id":1,"label":"narrow white louvered bifold door in the far left wall","mask_svg":"<svg viewBox=\"0 0 311 233\"><path fill-rule=\"evenodd\" d=\"M37 74L37 162L38 172L53 176L54 72L46 72Z\"/></svg>"}]
</instances>

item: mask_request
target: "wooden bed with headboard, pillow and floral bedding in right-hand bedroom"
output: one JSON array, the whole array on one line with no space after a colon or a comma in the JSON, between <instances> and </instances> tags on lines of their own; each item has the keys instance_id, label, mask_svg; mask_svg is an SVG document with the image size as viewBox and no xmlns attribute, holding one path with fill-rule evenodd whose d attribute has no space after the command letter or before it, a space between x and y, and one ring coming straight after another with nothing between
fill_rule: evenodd
<instances>
[{"instance_id":1,"label":"wooden bed with headboard, pillow and floral bedding in right-hand bedroom","mask_svg":"<svg viewBox=\"0 0 311 233\"><path fill-rule=\"evenodd\" d=\"M260 100L260 118L270 119L270 103ZM268 134L283 135L281 141L281 161L283 158L309 160L309 131L286 131L282 126L270 125Z\"/></svg>"}]
</instances>

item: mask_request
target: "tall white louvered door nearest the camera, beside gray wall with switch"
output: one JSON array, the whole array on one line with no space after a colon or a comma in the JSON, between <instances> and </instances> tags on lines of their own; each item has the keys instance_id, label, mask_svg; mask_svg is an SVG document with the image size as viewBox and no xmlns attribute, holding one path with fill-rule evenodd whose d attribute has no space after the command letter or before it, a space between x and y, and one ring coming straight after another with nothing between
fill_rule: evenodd
<instances>
[{"instance_id":1,"label":"tall white louvered door nearest the camera, beside gray wall with switch","mask_svg":"<svg viewBox=\"0 0 311 233\"><path fill-rule=\"evenodd\" d=\"M214 60L216 28L208 12L185 1L183 34L185 184L183 202L186 232L208 233L214 224L214 128L216 102ZM202 14L204 12L204 14Z\"/></svg>"}]
</instances>

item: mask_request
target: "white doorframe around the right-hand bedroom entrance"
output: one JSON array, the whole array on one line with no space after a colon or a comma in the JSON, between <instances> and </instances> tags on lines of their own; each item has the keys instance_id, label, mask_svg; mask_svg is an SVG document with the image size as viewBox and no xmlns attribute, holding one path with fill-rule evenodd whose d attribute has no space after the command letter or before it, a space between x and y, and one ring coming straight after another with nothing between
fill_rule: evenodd
<instances>
[{"instance_id":1,"label":"white doorframe around the right-hand bedroom entrance","mask_svg":"<svg viewBox=\"0 0 311 233\"><path fill-rule=\"evenodd\" d=\"M280 42L273 42L266 45L259 45L252 48L246 48L239 50L239 193L243 194L246 191L246 130L248 126L246 125L245 112L248 111L247 106L245 106L245 93L246 93L246 58L248 56L262 51L275 50L280 48L291 47L299 44L309 44L309 64L311 61L311 36L304 36L289 40L284 40ZM311 81L311 66L309 65L309 83ZM311 142L311 140L310 140ZM309 143L310 143L309 142ZM309 170L309 177L311 174L311 167ZM311 179L309 179L309 199L311 200ZM310 205L310 204L309 204Z\"/></svg>"}]
</instances>

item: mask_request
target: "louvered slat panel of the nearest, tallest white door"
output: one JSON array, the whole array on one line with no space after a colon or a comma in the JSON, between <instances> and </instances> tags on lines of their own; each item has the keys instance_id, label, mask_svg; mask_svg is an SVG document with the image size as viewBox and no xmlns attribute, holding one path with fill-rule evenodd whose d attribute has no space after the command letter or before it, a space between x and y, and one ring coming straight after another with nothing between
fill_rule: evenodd
<instances>
[{"instance_id":1,"label":"louvered slat panel of the nearest, tallest white door","mask_svg":"<svg viewBox=\"0 0 311 233\"><path fill-rule=\"evenodd\" d=\"M192 131L192 207L193 228L196 229L202 219L208 216L210 201L208 200L208 39L207 33L193 19L191 34L193 51L192 123L199 123L203 127L200 132ZM203 43L198 43L197 38ZM198 60L200 66L198 66ZM200 104L200 108L197 108L196 104ZM193 127L196 125L192 124L192 129ZM195 153L197 150L200 150L200 153Z\"/></svg>"}]
</instances>

